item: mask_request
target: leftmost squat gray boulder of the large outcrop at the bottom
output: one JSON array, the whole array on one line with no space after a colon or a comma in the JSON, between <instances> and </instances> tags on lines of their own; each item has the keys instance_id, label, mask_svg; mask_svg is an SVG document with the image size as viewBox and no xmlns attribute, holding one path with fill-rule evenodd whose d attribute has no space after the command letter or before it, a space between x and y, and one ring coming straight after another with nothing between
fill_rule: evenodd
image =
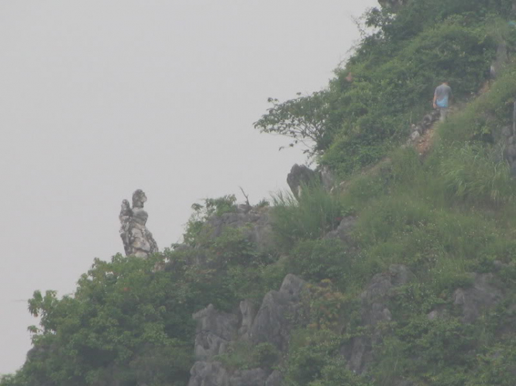
<instances>
[{"instance_id":1,"label":"leftmost squat gray boulder of the large outcrop at the bottom","mask_svg":"<svg viewBox=\"0 0 516 386\"><path fill-rule=\"evenodd\" d=\"M197 321L194 355L197 361L208 361L224 354L237 336L238 317L216 310L213 304L193 314Z\"/></svg>"}]
</instances>

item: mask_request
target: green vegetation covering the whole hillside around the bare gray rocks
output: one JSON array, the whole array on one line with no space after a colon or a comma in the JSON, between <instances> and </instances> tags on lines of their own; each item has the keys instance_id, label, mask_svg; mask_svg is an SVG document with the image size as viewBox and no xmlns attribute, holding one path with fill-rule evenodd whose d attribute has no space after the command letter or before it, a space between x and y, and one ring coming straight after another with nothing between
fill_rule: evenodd
<instances>
[{"instance_id":1,"label":"green vegetation covering the whole hillside around the bare gray rocks","mask_svg":"<svg viewBox=\"0 0 516 386\"><path fill-rule=\"evenodd\" d=\"M368 12L372 32L327 89L272 100L257 122L261 130L290 135L292 144L309 141L310 155L338 172L345 188L330 194L309 186L299 201L275 195L277 240L268 251L257 251L241 229L211 235L208 220L236 210L235 197L225 196L193 206L183 245L148 260L96 260L73 296L36 291L29 305L41 317L30 327L34 348L0 385L186 385L192 313L210 303L222 310L240 299L259 303L286 273L310 282L303 297L307 323L292 331L288 352L235 345L219 358L229 369L275 366L291 386L394 386L401 379L513 385L516 182L496 138L511 123L516 65L482 95L472 94L488 76L497 43L516 41L507 24L511 5L413 0L396 15ZM438 126L433 149L421 160L396 145L431 108L442 80L464 108ZM361 169L384 157L376 168ZM348 242L323 238L350 214L358 224ZM398 289L372 369L358 376L338 351L370 333L359 323L356 299L391 264L405 264L416 280ZM463 323L453 292L471 286L469 273L495 271L493 285L504 300ZM436 308L446 316L429 319Z\"/></svg>"}]
</instances>

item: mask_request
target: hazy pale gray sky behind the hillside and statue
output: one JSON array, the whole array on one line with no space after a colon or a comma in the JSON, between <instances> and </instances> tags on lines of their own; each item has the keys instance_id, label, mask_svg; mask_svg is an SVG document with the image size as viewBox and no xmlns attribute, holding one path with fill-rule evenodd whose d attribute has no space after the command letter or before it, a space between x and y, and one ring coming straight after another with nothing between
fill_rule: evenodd
<instances>
[{"instance_id":1,"label":"hazy pale gray sky behind the hillside and statue","mask_svg":"<svg viewBox=\"0 0 516 386\"><path fill-rule=\"evenodd\" d=\"M0 374L19 367L34 289L74 291L122 252L141 188L160 249L190 206L286 188L299 150L257 133L268 97L327 84L376 0L0 0ZM240 195L239 199L243 199Z\"/></svg>"}]
</instances>

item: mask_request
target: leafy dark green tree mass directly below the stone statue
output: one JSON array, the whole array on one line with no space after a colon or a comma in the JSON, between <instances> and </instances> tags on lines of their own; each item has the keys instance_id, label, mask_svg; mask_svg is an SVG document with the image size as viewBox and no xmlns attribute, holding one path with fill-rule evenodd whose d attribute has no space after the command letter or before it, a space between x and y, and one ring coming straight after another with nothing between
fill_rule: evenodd
<instances>
[{"instance_id":1,"label":"leafy dark green tree mass directly below the stone statue","mask_svg":"<svg viewBox=\"0 0 516 386\"><path fill-rule=\"evenodd\" d=\"M185 280L186 266L155 271L163 259L97 259L73 296L35 291L29 310L41 321L30 327L34 348L22 369L28 383L184 385L197 291Z\"/></svg>"}]
</instances>

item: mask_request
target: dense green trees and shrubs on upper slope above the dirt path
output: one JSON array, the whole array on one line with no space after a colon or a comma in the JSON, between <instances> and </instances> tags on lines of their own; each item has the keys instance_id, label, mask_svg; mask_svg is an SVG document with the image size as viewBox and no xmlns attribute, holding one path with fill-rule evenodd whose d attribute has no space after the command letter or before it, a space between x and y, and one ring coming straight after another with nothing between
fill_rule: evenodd
<instances>
[{"instance_id":1,"label":"dense green trees and shrubs on upper slope above the dirt path","mask_svg":"<svg viewBox=\"0 0 516 386\"><path fill-rule=\"evenodd\" d=\"M341 175L378 161L431 108L443 80L464 98L488 76L506 0L413 0L394 14L373 8L366 34L326 89L279 102L255 123L292 138ZM504 23L498 21L497 23Z\"/></svg>"}]
</instances>

